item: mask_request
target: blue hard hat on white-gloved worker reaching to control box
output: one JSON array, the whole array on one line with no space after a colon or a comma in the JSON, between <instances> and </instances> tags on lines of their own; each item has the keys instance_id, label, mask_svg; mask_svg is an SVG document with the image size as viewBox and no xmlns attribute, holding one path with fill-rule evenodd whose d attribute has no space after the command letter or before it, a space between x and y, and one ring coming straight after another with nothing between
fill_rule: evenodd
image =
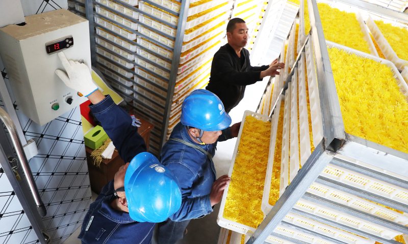
<instances>
[{"instance_id":1,"label":"blue hard hat on white-gloved worker reaching to control box","mask_svg":"<svg viewBox=\"0 0 408 244\"><path fill-rule=\"evenodd\" d=\"M163 222L182 204L179 180L149 153L132 159L124 176L124 189L129 215L138 222Z\"/></svg>"}]
</instances>

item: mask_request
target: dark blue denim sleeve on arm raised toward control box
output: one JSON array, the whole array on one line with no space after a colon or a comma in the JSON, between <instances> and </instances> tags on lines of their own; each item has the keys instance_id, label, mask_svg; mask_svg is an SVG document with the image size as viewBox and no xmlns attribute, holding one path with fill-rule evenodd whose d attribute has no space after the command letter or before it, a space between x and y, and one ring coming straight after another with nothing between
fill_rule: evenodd
<instances>
[{"instance_id":1,"label":"dark blue denim sleeve on arm raised toward control box","mask_svg":"<svg viewBox=\"0 0 408 244\"><path fill-rule=\"evenodd\" d=\"M117 106L111 96L90 105L89 108L100 121L125 163L131 162L133 157L146 151L146 144L137 132L137 127L132 126L131 115Z\"/></svg>"}]
</instances>

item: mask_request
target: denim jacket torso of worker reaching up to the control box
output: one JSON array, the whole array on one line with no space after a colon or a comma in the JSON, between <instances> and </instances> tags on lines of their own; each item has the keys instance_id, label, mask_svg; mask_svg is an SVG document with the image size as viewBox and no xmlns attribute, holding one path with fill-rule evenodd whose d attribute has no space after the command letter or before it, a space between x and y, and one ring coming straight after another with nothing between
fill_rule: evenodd
<instances>
[{"instance_id":1,"label":"denim jacket torso of worker reaching up to the control box","mask_svg":"<svg viewBox=\"0 0 408 244\"><path fill-rule=\"evenodd\" d=\"M129 213L118 211L111 206L113 180L91 203L78 236L83 244L90 243L135 243L149 244L156 223L136 222Z\"/></svg>"}]
</instances>

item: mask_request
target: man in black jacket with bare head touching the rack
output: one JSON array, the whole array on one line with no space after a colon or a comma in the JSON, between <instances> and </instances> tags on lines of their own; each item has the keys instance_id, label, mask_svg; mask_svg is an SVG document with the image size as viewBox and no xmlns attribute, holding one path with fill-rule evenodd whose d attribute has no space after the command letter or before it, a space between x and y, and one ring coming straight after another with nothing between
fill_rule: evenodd
<instances>
[{"instance_id":1,"label":"man in black jacket with bare head touching the rack","mask_svg":"<svg viewBox=\"0 0 408 244\"><path fill-rule=\"evenodd\" d=\"M250 39L243 19L234 18L228 22L226 37L228 43L214 54L206 89L221 99L225 112L229 113L244 97L247 85L266 76L278 75L278 70L285 68L285 64L277 63L275 59L269 66L251 66L249 52L243 48Z\"/></svg>"}]
</instances>

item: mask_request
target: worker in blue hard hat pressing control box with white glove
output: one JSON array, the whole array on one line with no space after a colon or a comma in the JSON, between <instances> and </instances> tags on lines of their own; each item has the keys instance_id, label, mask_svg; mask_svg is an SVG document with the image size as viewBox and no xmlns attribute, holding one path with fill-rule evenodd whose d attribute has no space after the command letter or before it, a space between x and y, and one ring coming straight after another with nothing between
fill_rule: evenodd
<instances>
[{"instance_id":1,"label":"worker in blue hard hat pressing control box with white glove","mask_svg":"<svg viewBox=\"0 0 408 244\"><path fill-rule=\"evenodd\" d=\"M151 154L129 113L105 97L93 83L85 64L58 56L64 66L56 74L70 88L87 97L119 156L126 163L89 206L84 218L82 243L151 243L156 223L165 221L181 206L179 181Z\"/></svg>"}]
</instances>

